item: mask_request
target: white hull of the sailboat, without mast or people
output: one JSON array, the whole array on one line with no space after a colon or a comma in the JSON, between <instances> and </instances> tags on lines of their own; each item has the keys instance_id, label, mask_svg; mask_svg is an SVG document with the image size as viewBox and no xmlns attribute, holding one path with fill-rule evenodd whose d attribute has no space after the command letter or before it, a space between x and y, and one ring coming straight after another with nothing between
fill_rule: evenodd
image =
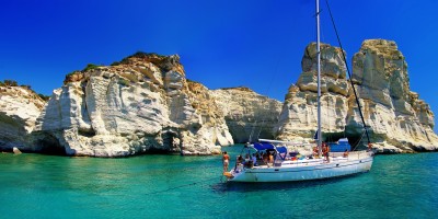
<instances>
[{"instance_id":1,"label":"white hull of the sailboat, without mast or people","mask_svg":"<svg viewBox=\"0 0 438 219\"><path fill-rule=\"evenodd\" d=\"M338 177L368 172L373 161L372 154L358 158L332 158L330 163L322 159L285 161L281 166L254 166L231 171L232 182L290 182Z\"/></svg>"}]
</instances>

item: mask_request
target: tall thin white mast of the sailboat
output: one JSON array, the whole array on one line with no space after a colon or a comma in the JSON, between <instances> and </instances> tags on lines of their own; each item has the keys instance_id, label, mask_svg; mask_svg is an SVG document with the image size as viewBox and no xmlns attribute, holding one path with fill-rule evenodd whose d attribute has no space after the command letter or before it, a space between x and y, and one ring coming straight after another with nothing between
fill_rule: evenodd
<instances>
[{"instance_id":1,"label":"tall thin white mast of the sailboat","mask_svg":"<svg viewBox=\"0 0 438 219\"><path fill-rule=\"evenodd\" d=\"M318 60L318 154L322 153L321 134L321 48L320 48L320 0L316 0L316 60Z\"/></svg>"}]
</instances>

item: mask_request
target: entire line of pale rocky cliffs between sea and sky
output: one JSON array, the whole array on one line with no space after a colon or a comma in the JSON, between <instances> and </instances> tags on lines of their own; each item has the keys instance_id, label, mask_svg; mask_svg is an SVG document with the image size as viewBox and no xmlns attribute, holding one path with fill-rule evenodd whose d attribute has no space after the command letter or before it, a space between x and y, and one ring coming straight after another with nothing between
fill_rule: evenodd
<instances>
[{"instance_id":1,"label":"entire line of pale rocky cliffs between sea and sky","mask_svg":"<svg viewBox=\"0 0 438 219\"><path fill-rule=\"evenodd\" d=\"M252 132L312 141L314 44L306 48L301 66L284 103L247 88L209 90L186 79L177 55L145 53L74 71L48 101L26 87L0 84L0 150L110 158L209 155L220 153L221 146L246 142ZM353 68L379 153L438 150L434 113L410 90L407 64L394 42L365 41ZM339 48L322 45L322 77L324 138L346 136L356 142L362 125Z\"/></svg>"}]
</instances>

